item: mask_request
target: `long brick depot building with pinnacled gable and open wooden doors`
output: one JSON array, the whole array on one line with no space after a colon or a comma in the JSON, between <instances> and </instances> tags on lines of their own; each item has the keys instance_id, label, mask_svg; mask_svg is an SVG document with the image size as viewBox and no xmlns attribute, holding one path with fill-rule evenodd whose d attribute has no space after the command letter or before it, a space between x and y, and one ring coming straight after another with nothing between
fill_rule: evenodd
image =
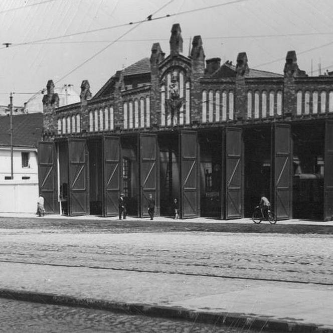
<instances>
[{"instance_id":1,"label":"long brick depot building with pinnacled gable and open wooden doors","mask_svg":"<svg viewBox=\"0 0 333 333\"><path fill-rule=\"evenodd\" d=\"M250 217L264 194L278 219L333 216L333 77L308 77L287 52L283 74L205 61L196 36L184 56L179 24L170 54L118 71L92 97L58 107L44 96L39 184L49 213L160 216L179 199L182 218Z\"/></svg>"}]
</instances>

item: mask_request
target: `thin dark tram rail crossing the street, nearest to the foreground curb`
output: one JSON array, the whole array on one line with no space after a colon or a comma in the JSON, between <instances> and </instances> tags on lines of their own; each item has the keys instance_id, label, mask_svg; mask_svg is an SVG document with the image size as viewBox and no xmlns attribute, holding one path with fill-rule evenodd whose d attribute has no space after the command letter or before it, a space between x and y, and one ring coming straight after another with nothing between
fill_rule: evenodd
<instances>
[{"instance_id":1,"label":"thin dark tram rail crossing the street, nearest to the foreground curb","mask_svg":"<svg viewBox=\"0 0 333 333\"><path fill-rule=\"evenodd\" d=\"M56 263L41 263L41 262L27 262L19 260L0 260L3 263L13 264L27 264L27 265L38 265L38 266L52 266L52 267L68 267L68 268L89 268L96 270L112 270L112 271L127 271L137 273L155 273L155 274L176 274L185 276L198 276L198 277L213 277L222 279L239 279L239 280L251 280L251 281L268 281L268 282L283 282L283 283L294 283L294 284L315 284L324 286L333 286L333 283L329 282L318 282L318 281L301 281L301 280L290 280L290 279L273 279L265 277L249 277L249 276L236 276L236 275L223 275L223 274L203 274L203 273L190 273L190 272L177 272L177 271L166 271L166 270L149 270L149 269L137 269L137 268L116 268L116 267L103 267L94 265L67 265L67 264L56 264Z\"/></svg>"}]
</instances>

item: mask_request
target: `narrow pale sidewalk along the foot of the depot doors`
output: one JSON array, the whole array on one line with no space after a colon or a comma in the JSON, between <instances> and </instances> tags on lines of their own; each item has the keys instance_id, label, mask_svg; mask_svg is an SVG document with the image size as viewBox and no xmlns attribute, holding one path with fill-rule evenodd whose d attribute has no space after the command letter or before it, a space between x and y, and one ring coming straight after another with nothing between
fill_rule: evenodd
<instances>
[{"instance_id":1,"label":"narrow pale sidewalk along the foot of the depot doors","mask_svg":"<svg viewBox=\"0 0 333 333\"><path fill-rule=\"evenodd\" d=\"M14 217L14 218L36 218L37 215L33 213L1 213L0 217ZM107 220L107 221L118 221L117 216L113 217L102 217L96 215L83 215L83 216L65 216L65 215L46 215L45 218L47 219L68 219L68 220ZM43 219L43 218L41 218ZM130 217L127 216L127 221L148 221L149 218L137 218L137 217ZM234 219L234 220L220 220L218 218L209 218L209 217L198 217L192 219L179 219L174 220L171 217L154 217L154 221L156 222L179 222L179 223L240 223L240 224L253 224L252 219L250 218L243 218L243 219ZM268 223L267 221L263 221L262 223ZM333 226L333 221L315 221L315 220L302 220L302 219L290 219L290 220L279 220L277 221L278 224L301 224L301 225L322 225L322 226Z\"/></svg>"}]
</instances>

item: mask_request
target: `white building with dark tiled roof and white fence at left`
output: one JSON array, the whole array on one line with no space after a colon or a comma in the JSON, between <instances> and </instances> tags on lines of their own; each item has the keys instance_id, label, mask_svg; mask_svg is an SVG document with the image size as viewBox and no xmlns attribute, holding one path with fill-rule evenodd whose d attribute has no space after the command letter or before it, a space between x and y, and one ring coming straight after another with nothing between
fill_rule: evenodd
<instances>
[{"instance_id":1,"label":"white building with dark tiled roof and white fence at left","mask_svg":"<svg viewBox=\"0 0 333 333\"><path fill-rule=\"evenodd\" d=\"M13 116L12 179L10 117L0 117L0 212L36 212L42 127L42 113Z\"/></svg>"}]
</instances>

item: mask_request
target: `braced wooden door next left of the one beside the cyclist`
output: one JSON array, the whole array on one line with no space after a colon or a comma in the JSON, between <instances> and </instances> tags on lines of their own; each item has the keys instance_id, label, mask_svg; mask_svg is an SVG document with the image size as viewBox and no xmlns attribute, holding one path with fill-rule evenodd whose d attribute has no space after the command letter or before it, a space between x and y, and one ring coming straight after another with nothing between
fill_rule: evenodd
<instances>
[{"instance_id":1,"label":"braced wooden door next left of the one beside the cyclist","mask_svg":"<svg viewBox=\"0 0 333 333\"><path fill-rule=\"evenodd\" d=\"M224 195L222 199L222 218L239 219L244 217L243 186L243 137L238 127L224 128Z\"/></svg>"}]
</instances>

